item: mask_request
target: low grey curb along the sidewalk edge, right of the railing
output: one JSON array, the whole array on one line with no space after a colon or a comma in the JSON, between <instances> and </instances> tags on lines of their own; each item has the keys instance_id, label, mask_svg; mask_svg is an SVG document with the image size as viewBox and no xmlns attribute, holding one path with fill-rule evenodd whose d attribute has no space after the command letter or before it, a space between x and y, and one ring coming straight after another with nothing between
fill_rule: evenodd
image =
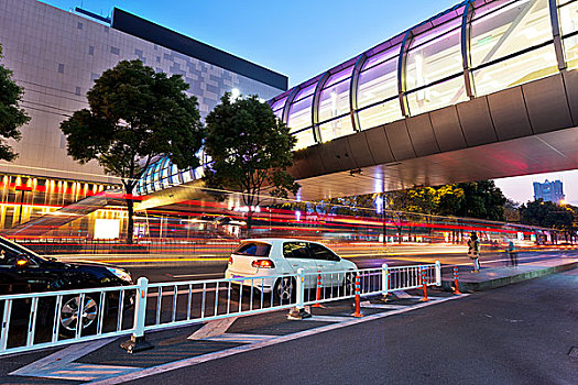
<instances>
[{"instance_id":1,"label":"low grey curb along the sidewalk edge, right of the railing","mask_svg":"<svg viewBox=\"0 0 578 385\"><path fill-rule=\"evenodd\" d=\"M525 272L516 275L511 275L506 277L490 279L490 280L483 280L483 282L460 282L459 283L459 289L461 292L484 292L484 290L491 290L498 287L508 286L511 284L516 284L524 280L530 280L534 278L539 278L546 275L566 272L572 268L578 267L578 262L572 262L568 264L561 264L557 266L552 267L545 267L545 268L538 268L532 272ZM443 280L441 282L441 288L445 290L451 290L452 289L454 282L452 280Z\"/></svg>"}]
</instances>

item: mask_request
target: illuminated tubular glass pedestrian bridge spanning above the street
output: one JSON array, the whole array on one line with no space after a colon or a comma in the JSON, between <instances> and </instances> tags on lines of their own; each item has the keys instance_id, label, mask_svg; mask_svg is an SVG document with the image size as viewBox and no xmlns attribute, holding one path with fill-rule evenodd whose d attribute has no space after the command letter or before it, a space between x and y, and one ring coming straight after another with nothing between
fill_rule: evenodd
<instances>
[{"instance_id":1,"label":"illuminated tubular glass pedestrian bridge spanning above the street","mask_svg":"<svg viewBox=\"0 0 578 385\"><path fill-rule=\"evenodd\" d=\"M577 168L577 0L468 0L269 103L301 198L350 196ZM181 174L161 161L140 194Z\"/></svg>"}]
</instances>

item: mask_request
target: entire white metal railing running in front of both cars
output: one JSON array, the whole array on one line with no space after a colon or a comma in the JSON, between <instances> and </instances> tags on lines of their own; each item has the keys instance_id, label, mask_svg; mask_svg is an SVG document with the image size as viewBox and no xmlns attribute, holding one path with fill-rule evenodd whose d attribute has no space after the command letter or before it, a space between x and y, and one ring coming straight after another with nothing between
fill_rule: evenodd
<instances>
[{"instance_id":1,"label":"entire white metal railing running in front of both cars","mask_svg":"<svg viewBox=\"0 0 578 385\"><path fill-rule=\"evenodd\" d=\"M361 296L385 295L422 287L422 272L441 285L436 262L0 296L0 355L353 298L356 277Z\"/></svg>"}]
</instances>

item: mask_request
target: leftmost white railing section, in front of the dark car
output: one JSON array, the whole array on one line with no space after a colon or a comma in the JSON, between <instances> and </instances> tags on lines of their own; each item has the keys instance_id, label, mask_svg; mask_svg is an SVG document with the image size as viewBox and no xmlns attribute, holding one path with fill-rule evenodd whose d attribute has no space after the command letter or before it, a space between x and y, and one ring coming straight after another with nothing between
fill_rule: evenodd
<instances>
[{"instance_id":1,"label":"leftmost white railing section, in front of the dark car","mask_svg":"<svg viewBox=\"0 0 578 385\"><path fill-rule=\"evenodd\" d=\"M0 296L0 354L130 334L138 286Z\"/></svg>"}]
</instances>

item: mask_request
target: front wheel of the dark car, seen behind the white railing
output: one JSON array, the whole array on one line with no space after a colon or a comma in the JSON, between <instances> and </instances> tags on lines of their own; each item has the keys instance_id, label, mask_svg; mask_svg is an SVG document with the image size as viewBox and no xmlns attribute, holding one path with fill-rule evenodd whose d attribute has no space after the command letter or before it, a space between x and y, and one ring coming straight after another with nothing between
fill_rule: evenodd
<instances>
[{"instance_id":1,"label":"front wheel of the dark car, seen behind the white railing","mask_svg":"<svg viewBox=\"0 0 578 385\"><path fill-rule=\"evenodd\" d=\"M86 295L84 306L80 306L80 297L65 297L59 317L59 330L63 334L75 334L78 319L81 315L83 334L92 331L98 321L98 302L91 296Z\"/></svg>"}]
</instances>

